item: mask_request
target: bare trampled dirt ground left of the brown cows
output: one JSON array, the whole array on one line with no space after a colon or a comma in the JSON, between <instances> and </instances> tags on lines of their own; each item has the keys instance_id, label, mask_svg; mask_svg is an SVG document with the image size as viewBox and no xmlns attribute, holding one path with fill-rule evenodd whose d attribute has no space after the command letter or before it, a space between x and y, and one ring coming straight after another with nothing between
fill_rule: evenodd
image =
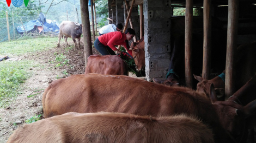
<instances>
[{"instance_id":1,"label":"bare trampled dirt ground left of the brown cows","mask_svg":"<svg viewBox=\"0 0 256 143\"><path fill-rule=\"evenodd\" d=\"M82 38L81 41L83 41ZM17 99L12 101L8 107L0 108L1 143L7 142L9 136L15 131L15 129L26 124L25 121L27 119L35 115L43 114L41 98L44 89L48 86L48 83L57 80L56 77L65 77L73 74L84 73L83 45L81 45L80 50L74 51L74 49L66 50L64 40L61 43L62 45L60 48L56 47L47 51L12 57L34 60L36 63L39 63L40 66L29 68L33 70L33 75L25 83L23 83L22 86L25 88L23 94L18 95ZM56 63L52 63L50 61L56 61L56 54L61 53L66 56L66 59L69 59L69 63L68 65L64 64L64 66L55 67ZM93 54L99 54L99 52L93 48ZM64 70L66 70L67 75L63 74ZM38 94L34 95L36 93ZM34 96L27 98L29 95Z\"/></svg>"}]
</instances>

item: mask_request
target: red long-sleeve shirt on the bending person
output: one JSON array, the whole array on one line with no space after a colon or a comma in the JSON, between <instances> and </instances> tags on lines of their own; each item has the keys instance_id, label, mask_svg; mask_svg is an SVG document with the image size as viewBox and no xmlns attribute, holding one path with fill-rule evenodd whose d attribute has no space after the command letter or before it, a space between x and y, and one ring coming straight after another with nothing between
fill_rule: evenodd
<instances>
[{"instance_id":1,"label":"red long-sleeve shirt on the bending person","mask_svg":"<svg viewBox=\"0 0 256 143\"><path fill-rule=\"evenodd\" d=\"M126 36L123 32L115 31L103 34L98 37L99 41L104 45L110 47L112 50L117 50L115 46L122 45L128 53L132 56L132 51L126 47Z\"/></svg>"}]
</instances>

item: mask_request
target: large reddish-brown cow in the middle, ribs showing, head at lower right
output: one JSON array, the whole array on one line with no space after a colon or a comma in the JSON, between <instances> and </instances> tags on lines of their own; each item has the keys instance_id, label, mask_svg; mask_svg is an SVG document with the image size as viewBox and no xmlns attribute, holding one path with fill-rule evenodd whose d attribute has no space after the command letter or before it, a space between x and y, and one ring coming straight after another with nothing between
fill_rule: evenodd
<instances>
[{"instance_id":1,"label":"large reddish-brown cow in the middle, ribs showing, head at lower right","mask_svg":"<svg viewBox=\"0 0 256 143\"><path fill-rule=\"evenodd\" d=\"M230 142L222 127L233 137L240 137L245 115L251 115L256 101L245 107L230 100L217 101L213 86L211 95L212 104L204 93L190 88L167 87L129 76L86 74L53 81L42 96L42 105L46 118L67 112L186 113L209 124L216 142Z\"/></svg>"}]
</instances>

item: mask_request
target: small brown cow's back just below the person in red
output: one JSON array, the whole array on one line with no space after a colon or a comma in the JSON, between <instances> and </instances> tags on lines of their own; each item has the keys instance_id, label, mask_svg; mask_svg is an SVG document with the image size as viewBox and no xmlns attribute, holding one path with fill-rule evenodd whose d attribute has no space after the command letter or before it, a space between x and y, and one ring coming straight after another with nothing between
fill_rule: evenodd
<instances>
[{"instance_id":1,"label":"small brown cow's back just below the person in red","mask_svg":"<svg viewBox=\"0 0 256 143\"><path fill-rule=\"evenodd\" d=\"M117 55L90 55L85 74L128 75L127 63Z\"/></svg>"}]
</instances>

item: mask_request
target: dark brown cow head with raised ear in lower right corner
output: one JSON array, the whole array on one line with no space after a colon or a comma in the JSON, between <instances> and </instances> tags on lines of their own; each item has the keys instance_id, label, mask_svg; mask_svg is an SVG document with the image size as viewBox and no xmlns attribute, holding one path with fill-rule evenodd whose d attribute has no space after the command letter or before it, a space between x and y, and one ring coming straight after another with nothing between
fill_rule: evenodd
<instances>
[{"instance_id":1,"label":"dark brown cow head with raised ear in lower right corner","mask_svg":"<svg viewBox=\"0 0 256 143\"><path fill-rule=\"evenodd\" d=\"M237 142L245 142L248 131L245 120L255 113L256 100L245 106L233 100L217 101L214 85L208 84L206 88L210 89L210 100L216 109L222 127L227 129Z\"/></svg>"}]
</instances>

